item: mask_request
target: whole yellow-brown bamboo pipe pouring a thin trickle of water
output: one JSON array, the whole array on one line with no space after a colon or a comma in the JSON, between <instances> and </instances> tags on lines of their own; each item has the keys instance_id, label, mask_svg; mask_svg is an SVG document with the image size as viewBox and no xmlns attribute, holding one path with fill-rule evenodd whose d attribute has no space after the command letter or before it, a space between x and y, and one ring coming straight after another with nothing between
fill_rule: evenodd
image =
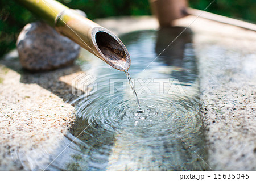
<instances>
[{"instance_id":1,"label":"whole yellow-brown bamboo pipe pouring a thin trickle of water","mask_svg":"<svg viewBox=\"0 0 256 181\"><path fill-rule=\"evenodd\" d=\"M130 55L125 45L106 28L55 0L16 1L113 68L121 71L130 68Z\"/></svg>"}]
</instances>

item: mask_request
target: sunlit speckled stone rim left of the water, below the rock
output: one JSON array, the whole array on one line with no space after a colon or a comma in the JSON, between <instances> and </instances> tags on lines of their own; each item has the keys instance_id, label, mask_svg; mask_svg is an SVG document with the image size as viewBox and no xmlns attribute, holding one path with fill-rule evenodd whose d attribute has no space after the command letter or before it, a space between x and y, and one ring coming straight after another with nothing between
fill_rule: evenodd
<instances>
[{"instance_id":1,"label":"sunlit speckled stone rim left of the water, below the rock","mask_svg":"<svg viewBox=\"0 0 256 181\"><path fill-rule=\"evenodd\" d=\"M65 103L74 98L71 86L60 79L80 68L30 73L16 50L0 64L0 170L42 169L76 121L75 108Z\"/></svg>"}]
</instances>

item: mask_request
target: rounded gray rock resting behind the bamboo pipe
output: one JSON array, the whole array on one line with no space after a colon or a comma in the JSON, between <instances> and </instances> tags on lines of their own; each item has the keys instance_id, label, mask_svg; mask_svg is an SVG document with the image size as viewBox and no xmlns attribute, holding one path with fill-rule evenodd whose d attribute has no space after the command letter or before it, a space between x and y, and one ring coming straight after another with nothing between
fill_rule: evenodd
<instances>
[{"instance_id":1,"label":"rounded gray rock resting behind the bamboo pipe","mask_svg":"<svg viewBox=\"0 0 256 181\"><path fill-rule=\"evenodd\" d=\"M16 47L23 68L31 71L47 71L73 64L80 46L61 36L44 22L24 26Z\"/></svg>"}]
</instances>

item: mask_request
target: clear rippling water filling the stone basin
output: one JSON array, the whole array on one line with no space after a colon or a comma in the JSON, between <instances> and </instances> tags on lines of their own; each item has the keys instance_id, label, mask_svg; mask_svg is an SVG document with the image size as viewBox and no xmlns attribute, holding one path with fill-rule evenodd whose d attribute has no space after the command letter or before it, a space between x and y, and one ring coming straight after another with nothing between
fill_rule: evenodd
<instances>
[{"instance_id":1,"label":"clear rippling water filling the stone basin","mask_svg":"<svg viewBox=\"0 0 256 181\"><path fill-rule=\"evenodd\" d=\"M92 61L96 65L88 62L82 65L87 73L97 77L97 90L88 99L78 100L79 120L70 130L73 136L78 136L69 151L72 158L65 164L54 162L53 167L208 170L193 153L206 159L191 32L185 31L144 70L181 31L176 27L121 37L132 58L129 72L142 112L137 112L134 95L122 82L124 79L127 83L123 72L110 70L96 58ZM64 160L65 156L58 159Z\"/></svg>"}]
</instances>

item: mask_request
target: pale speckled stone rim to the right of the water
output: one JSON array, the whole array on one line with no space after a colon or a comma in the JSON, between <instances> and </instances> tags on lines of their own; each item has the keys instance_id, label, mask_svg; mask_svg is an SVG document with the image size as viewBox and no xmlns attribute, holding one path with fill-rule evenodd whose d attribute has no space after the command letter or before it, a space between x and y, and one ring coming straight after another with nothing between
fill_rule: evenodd
<instances>
[{"instance_id":1,"label":"pale speckled stone rim to the right of the water","mask_svg":"<svg viewBox=\"0 0 256 181\"><path fill-rule=\"evenodd\" d=\"M190 28L207 162L213 170L256 170L256 32L201 18Z\"/></svg>"}]
</instances>

